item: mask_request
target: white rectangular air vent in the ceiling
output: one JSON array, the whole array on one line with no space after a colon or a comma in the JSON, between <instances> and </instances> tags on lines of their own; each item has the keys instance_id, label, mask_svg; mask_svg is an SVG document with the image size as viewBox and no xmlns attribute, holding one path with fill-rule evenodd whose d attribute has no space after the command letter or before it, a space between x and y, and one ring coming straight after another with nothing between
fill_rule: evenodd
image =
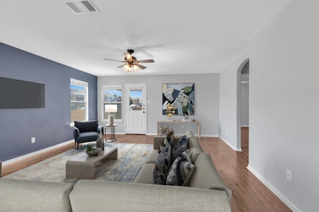
<instances>
[{"instance_id":1,"label":"white rectangular air vent in the ceiling","mask_svg":"<svg viewBox=\"0 0 319 212\"><path fill-rule=\"evenodd\" d=\"M62 0L75 14L100 12L89 0Z\"/></svg>"}]
</instances>

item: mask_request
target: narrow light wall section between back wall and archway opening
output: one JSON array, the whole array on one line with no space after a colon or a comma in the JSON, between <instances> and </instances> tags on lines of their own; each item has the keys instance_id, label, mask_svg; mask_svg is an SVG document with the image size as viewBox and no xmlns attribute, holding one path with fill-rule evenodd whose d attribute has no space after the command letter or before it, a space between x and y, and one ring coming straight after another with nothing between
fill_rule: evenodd
<instances>
[{"instance_id":1,"label":"narrow light wall section between back wall and archway opening","mask_svg":"<svg viewBox=\"0 0 319 212\"><path fill-rule=\"evenodd\" d=\"M241 151L240 93L237 92L240 92L240 71L248 60L248 53L248 50L242 53L219 73L219 138L236 151Z\"/></svg>"}]
</instances>

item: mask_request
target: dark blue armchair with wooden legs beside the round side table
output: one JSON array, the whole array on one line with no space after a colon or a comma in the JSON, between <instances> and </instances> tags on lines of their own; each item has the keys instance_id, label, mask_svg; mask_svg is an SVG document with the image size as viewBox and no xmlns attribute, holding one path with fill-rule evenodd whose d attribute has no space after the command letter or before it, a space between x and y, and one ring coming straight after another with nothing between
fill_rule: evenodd
<instances>
[{"instance_id":1,"label":"dark blue armchair with wooden legs beside the round side table","mask_svg":"<svg viewBox=\"0 0 319 212\"><path fill-rule=\"evenodd\" d=\"M84 122L74 122L73 127L73 137L75 144L96 141L100 132L104 135L103 127L99 125L98 120L84 121Z\"/></svg>"}]
</instances>

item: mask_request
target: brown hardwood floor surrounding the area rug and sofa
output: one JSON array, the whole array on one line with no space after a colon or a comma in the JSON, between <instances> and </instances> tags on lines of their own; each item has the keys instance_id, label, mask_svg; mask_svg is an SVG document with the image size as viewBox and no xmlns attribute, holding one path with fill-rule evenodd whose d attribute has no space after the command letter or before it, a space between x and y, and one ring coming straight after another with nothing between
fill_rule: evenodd
<instances>
[{"instance_id":1,"label":"brown hardwood floor surrounding the area rug and sofa","mask_svg":"<svg viewBox=\"0 0 319 212\"><path fill-rule=\"evenodd\" d=\"M242 137L246 136L248 139L248 131L246 133L247 135L243 135L245 131L242 131ZM152 144L153 137L116 135L118 141L115 142ZM244 148L247 149L246 152L236 152L219 138L201 137L198 141L204 152L210 154L220 176L232 190L231 206L233 212L292 212L246 168L248 165L248 148ZM2 174L5 176L72 148L76 148L74 143L3 166Z\"/></svg>"}]
</instances>

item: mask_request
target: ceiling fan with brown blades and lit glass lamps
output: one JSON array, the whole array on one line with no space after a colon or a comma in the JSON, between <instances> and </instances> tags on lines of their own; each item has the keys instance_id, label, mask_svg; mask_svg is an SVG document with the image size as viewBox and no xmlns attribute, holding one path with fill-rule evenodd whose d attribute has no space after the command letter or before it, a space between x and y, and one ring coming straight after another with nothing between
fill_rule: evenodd
<instances>
[{"instance_id":1,"label":"ceiling fan with brown blades and lit glass lamps","mask_svg":"<svg viewBox=\"0 0 319 212\"><path fill-rule=\"evenodd\" d=\"M153 59L138 61L136 57L132 56L133 53L134 53L134 50L128 49L128 53L124 53L125 55L124 61L119 61L119 62L127 63L127 64L119 66L118 68L123 68L125 71L128 71L129 73L131 73L132 69L134 69L134 71L138 71L139 69L147 68L145 66L140 65L140 63L155 63ZM111 60L111 59L104 59L104 60L117 61L117 60Z\"/></svg>"}]
</instances>

